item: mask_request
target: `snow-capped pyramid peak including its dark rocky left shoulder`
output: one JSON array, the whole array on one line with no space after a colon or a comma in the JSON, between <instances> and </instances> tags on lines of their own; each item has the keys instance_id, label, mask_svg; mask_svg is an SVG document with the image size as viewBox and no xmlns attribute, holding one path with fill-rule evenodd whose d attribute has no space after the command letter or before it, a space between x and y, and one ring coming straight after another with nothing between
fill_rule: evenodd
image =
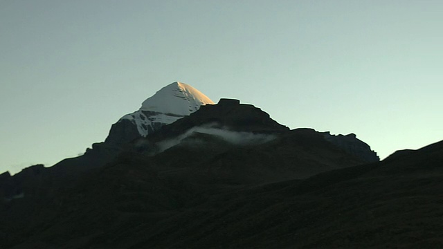
<instances>
[{"instance_id":1,"label":"snow-capped pyramid peak including its dark rocky left shoulder","mask_svg":"<svg viewBox=\"0 0 443 249\"><path fill-rule=\"evenodd\" d=\"M123 116L113 124L105 142L122 145L147 136L165 124L190 115L205 104L214 102L188 84L173 82L143 101L138 111Z\"/></svg>"}]
</instances>

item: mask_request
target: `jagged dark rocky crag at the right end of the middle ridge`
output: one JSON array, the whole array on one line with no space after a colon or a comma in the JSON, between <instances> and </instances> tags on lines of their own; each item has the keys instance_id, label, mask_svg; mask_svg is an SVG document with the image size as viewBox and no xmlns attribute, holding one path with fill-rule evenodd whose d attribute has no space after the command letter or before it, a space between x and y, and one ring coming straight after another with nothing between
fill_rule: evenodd
<instances>
[{"instance_id":1,"label":"jagged dark rocky crag at the right end of the middle ridge","mask_svg":"<svg viewBox=\"0 0 443 249\"><path fill-rule=\"evenodd\" d=\"M335 136L327 131L323 133L323 136L327 141L332 142L332 144L340 147L347 153L361 158L361 160L366 163L374 163L380 160L377 153L373 151L368 144L356 138L354 133L350 133L346 136L341 134Z\"/></svg>"}]
</instances>

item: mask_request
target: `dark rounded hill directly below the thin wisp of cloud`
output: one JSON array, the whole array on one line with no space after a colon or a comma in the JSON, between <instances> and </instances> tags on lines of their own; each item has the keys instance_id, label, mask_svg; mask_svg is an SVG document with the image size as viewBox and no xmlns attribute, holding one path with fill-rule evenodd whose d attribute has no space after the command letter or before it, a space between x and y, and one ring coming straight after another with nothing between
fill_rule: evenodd
<instances>
[{"instance_id":1,"label":"dark rounded hill directly below the thin wisp of cloud","mask_svg":"<svg viewBox=\"0 0 443 249\"><path fill-rule=\"evenodd\" d=\"M345 154L312 129L289 131L262 145L220 148L219 143L205 143L200 146L205 149L190 147L185 141L154 156L153 160L181 170L183 178L194 181L217 178L239 184L306 178L361 164L359 158Z\"/></svg>"}]
</instances>

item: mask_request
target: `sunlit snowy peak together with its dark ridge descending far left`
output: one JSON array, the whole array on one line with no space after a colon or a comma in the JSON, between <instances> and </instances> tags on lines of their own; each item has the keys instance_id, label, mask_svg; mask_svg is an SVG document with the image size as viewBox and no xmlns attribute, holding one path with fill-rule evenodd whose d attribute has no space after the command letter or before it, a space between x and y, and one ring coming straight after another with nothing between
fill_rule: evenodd
<instances>
[{"instance_id":1,"label":"sunlit snowy peak together with its dark ridge descending far left","mask_svg":"<svg viewBox=\"0 0 443 249\"><path fill-rule=\"evenodd\" d=\"M94 143L82 156L66 158L48 168L40 169L42 165L32 166L24 169L15 178L21 179L21 175L32 174L35 167L39 167L38 172L42 171L45 177L53 178L51 181L60 184L71 182L79 174L100 168L114 160L127 142L143 138L165 124L188 116L204 104L214 104L214 102L188 84L173 82L147 98L138 111L126 114L112 124L105 141ZM29 179L26 182L29 181L33 180ZM22 189L21 180L17 180L15 185L17 191Z\"/></svg>"}]
</instances>

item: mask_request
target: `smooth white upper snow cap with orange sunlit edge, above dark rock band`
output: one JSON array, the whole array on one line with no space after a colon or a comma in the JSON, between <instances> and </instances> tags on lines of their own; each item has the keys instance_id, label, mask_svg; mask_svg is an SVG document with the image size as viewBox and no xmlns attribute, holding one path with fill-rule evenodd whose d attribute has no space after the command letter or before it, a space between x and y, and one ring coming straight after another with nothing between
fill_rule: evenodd
<instances>
[{"instance_id":1,"label":"smooth white upper snow cap with orange sunlit edge, above dark rock band","mask_svg":"<svg viewBox=\"0 0 443 249\"><path fill-rule=\"evenodd\" d=\"M204 104L214 104L214 102L194 87L174 82L145 100L140 110L187 116Z\"/></svg>"}]
</instances>

